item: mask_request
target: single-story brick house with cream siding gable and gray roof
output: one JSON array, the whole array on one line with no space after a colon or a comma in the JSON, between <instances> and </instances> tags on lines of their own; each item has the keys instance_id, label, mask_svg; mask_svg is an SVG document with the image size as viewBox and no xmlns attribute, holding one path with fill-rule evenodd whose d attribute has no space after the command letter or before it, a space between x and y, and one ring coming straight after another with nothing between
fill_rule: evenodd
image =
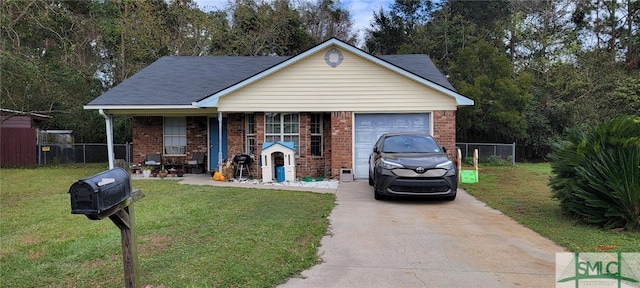
<instances>
[{"instance_id":1,"label":"single-story brick house with cream siding gable and gray roof","mask_svg":"<svg viewBox=\"0 0 640 288\"><path fill-rule=\"evenodd\" d=\"M292 57L163 57L84 108L107 129L111 115L133 116L135 163L205 152L213 171L246 154L260 178L263 144L293 142L297 177L335 179L341 169L367 178L384 132L426 131L453 156L463 105L473 101L427 55L374 56L332 38Z\"/></svg>"}]
</instances>

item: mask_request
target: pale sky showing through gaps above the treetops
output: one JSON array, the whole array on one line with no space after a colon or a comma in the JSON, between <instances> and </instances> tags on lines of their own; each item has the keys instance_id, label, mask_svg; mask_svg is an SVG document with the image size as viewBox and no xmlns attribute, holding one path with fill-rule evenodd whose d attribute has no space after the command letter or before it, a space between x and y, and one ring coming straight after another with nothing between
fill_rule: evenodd
<instances>
[{"instance_id":1,"label":"pale sky showing through gaps above the treetops","mask_svg":"<svg viewBox=\"0 0 640 288\"><path fill-rule=\"evenodd\" d=\"M228 0L194 0L194 2L203 11L211 11L224 9ZM393 0L341 0L340 2L351 13L354 29L358 31L358 39L363 41L365 29L371 27L370 21L373 19L373 12L380 11L380 8L388 11L389 5L393 3Z\"/></svg>"}]
</instances>

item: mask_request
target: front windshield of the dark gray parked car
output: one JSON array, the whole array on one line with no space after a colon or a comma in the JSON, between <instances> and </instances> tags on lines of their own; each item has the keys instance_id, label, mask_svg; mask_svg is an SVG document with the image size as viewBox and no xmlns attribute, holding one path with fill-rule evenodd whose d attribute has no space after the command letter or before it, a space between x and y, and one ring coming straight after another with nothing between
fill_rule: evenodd
<instances>
[{"instance_id":1,"label":"front windshield of the dark gray parked car","mask_svg":"<svg viewBox=\"0 0 640 288\"><path fill-rule=\"evenodd\" d=\"M382 146L384 153L440 153L440 147L427 136L393 135L386 137Z\"/></svg>"}]
</instances>

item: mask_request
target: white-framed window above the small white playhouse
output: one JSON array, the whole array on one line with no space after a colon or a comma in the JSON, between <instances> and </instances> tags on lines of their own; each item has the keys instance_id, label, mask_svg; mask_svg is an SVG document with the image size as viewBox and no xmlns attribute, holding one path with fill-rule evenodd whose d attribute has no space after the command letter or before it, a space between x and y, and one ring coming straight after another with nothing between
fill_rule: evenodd
<instances>
[{"instance_id":1,"label":"white-framed window above the small white playhouse","mask_svg":"<svg viewBox=\"0 0 640 288\"><path fill-rule=\"evenodd\" d=\"M265 142L293 142L298 154L300 145L300 114L264 113Z\"/></svg>"}]
</instances>

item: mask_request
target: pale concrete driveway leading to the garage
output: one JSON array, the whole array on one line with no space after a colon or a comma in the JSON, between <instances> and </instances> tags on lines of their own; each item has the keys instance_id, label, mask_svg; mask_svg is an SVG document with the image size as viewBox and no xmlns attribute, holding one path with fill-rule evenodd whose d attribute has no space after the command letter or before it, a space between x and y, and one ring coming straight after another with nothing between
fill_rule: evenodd
<instances>
[{"instance_id":1,"label":"pale concrete driveway leading to the garage","mask_svg":"<svg viewBox=\"0 0 640 288\"><path fill-rule=\"evenodd\" d=\"M323 262L279 287L555 287L565 250L459 190L453 202L373 199L340 183Z\"/></svg>"}]
</instances>

